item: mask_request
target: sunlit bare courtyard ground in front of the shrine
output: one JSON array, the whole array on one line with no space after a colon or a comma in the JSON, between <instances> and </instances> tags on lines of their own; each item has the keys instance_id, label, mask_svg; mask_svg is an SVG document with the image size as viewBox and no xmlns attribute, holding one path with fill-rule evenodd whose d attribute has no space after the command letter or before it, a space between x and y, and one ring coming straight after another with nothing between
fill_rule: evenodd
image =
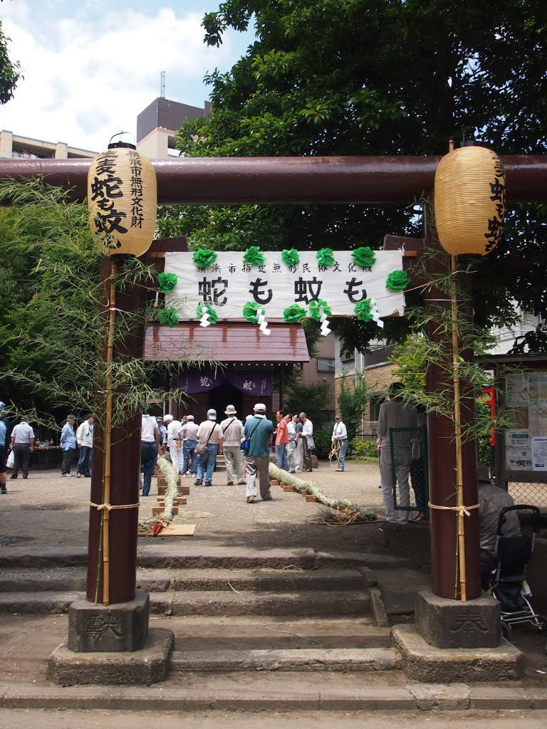
<instances>
[{"instance_id":1,"label":"sunlit bare courtyard ground in front of the shrine","mask_svg":"<svg viewBox=\"0 0 547 729\"><path fill-rule=\"evenodd\" d=\"M378 488L378 469L373 465L349 464L344 473L321 464L307 474L317 481L328 496L351 499L362 506L381 513L381 494ZM155 486L151 495L142 498L139 515L152 515ZM321 534L327 542L338 542L344 532L345 542L354 542L361 527L333 529L328 526L309 526L317 515L318 505L309 504L298 494L286 494L274 487L274 501L247 504L244 486L227 486L225 472L215 472L213 486L193 486L193 479L183 480L190 485L186 507L181 507L175 522L195 523L194 539L214 539L230 545L295 546L302 545L306 534ZM87 478L61 478L53 471L31 472L27 480L8 480L8 493L0 495L0 538L39 541L43 545L86 545L88 529L88 501L90 480ZM304 532L303 525L306 525ZM368 532L378 526L365 525ZM337 532L327 537L327 532ZM350 534L350 532L352 532ZM22 543L22 542L20 542ZM356 543L356 542L354 542ZM306 544L304 544L306 545ZM315 546L315 545L307 545Z\"/></svg>"}]
</instances>

